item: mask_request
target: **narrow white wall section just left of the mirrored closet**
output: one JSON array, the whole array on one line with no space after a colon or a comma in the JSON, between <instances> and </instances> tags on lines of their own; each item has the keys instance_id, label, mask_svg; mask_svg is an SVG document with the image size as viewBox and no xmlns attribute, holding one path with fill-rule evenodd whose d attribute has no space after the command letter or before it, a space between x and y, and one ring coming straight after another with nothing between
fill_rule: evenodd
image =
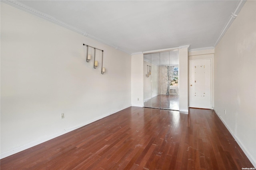
<instances>
[{"instance_id":1,"label":"narrow white wall section just left of the mirrored closet","mask_svg":"<svg viewBox=\"0 0 256 170\"><path fill-rule=\"evenodd\" d=\"M143 107L143 54L132 55L131 69L132 106Z\"/></svg>"}]
</instances>

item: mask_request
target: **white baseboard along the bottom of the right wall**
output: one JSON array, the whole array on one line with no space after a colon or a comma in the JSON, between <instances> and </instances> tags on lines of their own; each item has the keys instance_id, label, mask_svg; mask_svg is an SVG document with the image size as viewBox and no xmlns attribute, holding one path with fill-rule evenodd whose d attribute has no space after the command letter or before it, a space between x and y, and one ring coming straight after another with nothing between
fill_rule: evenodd
<instances>
[{"instance_id":1,"label":"white baseboard along the bottom of the right wall","mask_svg":"<svg viewBox=\"0 0 256 170\"><path fill-rule=\"evenodd\" d=\"M220 120L222 121L222 123L226 126L226 128L228 129L228 131L230 132L230 134L233 136L233 138L236 140L237 144L240 146L240 148L244 151L244 154L246 154L247 158L251 161L252 165L254 167L256 167L256 160L254 160L254 158L252 157L252 155L248 152L248 150L244 147L244 145L242 144L242 142L239 140L239 138L237 138L237 136L232 132L232 130L229 128L228 124L226 124L226 122L222 119L222 117L220 116L220 114L214 109L214 112L217 114L217 116L220 118ZM248 168L252 168L252 167L248 167Z\"/></svg>"}]
</instances>

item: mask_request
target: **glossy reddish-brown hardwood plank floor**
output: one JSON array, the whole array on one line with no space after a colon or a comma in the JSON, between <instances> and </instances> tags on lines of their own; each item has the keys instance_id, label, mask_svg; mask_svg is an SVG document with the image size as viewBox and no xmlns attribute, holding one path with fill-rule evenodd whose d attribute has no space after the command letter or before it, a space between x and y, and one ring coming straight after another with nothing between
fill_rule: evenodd
<instances>
[{"instance_id":1,"label":"glossy reddish-brown hardwood plank floor","mask_svg":"<svg viewBox=\"0 0 256 170\"><path fill-rule=\"evenodd\" d=\"M1 170L241 170L253 167L212 110L130 107L9 156Z\"/></svg>"}]
</instances>

